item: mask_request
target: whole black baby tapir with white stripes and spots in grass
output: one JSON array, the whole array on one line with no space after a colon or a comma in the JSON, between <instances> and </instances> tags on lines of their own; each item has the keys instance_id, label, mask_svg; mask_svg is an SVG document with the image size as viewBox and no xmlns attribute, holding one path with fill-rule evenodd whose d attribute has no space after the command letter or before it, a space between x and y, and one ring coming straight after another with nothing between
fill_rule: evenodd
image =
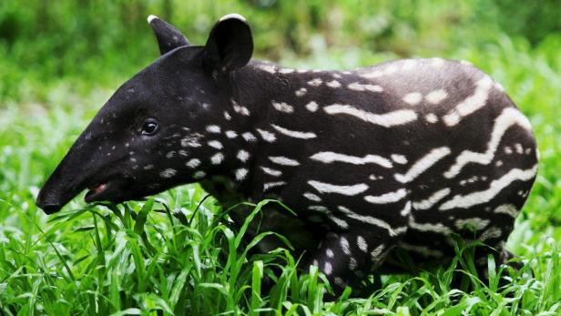
<instances>
[{"instance_id":1,"label":"whole black baby tapir with white stripes and spots in grass","mask_svg":"<svg viewBox=\"0 0 561 316\"><path fill-rule=\"evenodd\" d=\"M526 117L482 71L440 58L291 69L250 61L240 15L222 17L205 46L148 22L161 56L117 89L48 178L36 201L46 213L84 189L87 202L120 202L191 182L225 205L280 199L297 215L270 206L261 229L336 287L390 250L447 258L453 235L503 249L537 152ZM245 213L230 216L240 224Z\"/></svg>"}]
</instances>

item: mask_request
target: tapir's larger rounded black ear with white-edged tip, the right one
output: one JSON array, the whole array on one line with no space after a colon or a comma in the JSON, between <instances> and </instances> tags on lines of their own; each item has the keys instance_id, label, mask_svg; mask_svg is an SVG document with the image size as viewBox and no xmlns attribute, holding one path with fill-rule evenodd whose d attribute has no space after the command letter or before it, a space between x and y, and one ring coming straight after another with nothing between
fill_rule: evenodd
<instances>
[{"instance_id":1,"label":"tapir's larger rounded black ear with white-edged tip, the right one","mask_svg":"<svg viewBox=\"0 0 561 316\"><path fill-rule=\"evenodd\" d=\"M231 14L222 16L210 30L203 60L213 73L225 73L246 66L252 53L250 25L243 16Z\"/></svg>"}]
</instances>

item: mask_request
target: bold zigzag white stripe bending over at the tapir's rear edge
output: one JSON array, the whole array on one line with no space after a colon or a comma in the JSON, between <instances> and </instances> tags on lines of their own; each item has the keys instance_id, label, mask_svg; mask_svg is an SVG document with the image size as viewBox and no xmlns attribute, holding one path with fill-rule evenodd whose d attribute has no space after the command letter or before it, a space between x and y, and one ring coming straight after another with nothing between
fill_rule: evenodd
<instances>
[{"instance_id":1,"label":"bold zigzag white stripe bending over at the tapir's rear edge","mask_svg":"<svg viewBox=\"0 0 561 316\"><path fill-rule=\"evenodd\" d=\"M491 133L491 139L487 143L487 150L484 153L478 153L470 150L464 150L455 160L455 163L446 172L444 172L444 177L454 178L457 176L462 168L468 163L478 163L482 165L488 165L495 158L496 149L501 143L501 139L505 136L505 132L509 127L518 125L530 131L531 126L528 119L516 110L514 107L507 107L503 110L500 116L495 119L495 126L493 127L493 132ZM508 150L512 149L508 148ZM505 151L507 151L505 149ZM507 152L508 153L508 152Z\"/></svg>"}]
</instances>

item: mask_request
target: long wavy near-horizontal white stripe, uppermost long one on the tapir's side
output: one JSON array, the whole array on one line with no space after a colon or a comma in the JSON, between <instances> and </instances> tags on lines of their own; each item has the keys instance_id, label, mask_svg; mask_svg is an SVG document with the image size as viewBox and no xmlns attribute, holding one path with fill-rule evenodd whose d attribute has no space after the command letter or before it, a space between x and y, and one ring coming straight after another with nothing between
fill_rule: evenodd
<instances>
[{"instance_id":1,"label":"long wavy near-horizontal white stripe, uppermost long one on the tapir's side","mask_svg":"<svg viewBox=\"0 0 561 316\"><path fill-rule=\"evenodd\" d=\"M396 110L385 114L374 114L350 105L333 104L328 107L323 107L323 110L331 115L347 114L382 127L403 125L417 119L417 114L409 109Z\"/></svg>"}]
</instances>

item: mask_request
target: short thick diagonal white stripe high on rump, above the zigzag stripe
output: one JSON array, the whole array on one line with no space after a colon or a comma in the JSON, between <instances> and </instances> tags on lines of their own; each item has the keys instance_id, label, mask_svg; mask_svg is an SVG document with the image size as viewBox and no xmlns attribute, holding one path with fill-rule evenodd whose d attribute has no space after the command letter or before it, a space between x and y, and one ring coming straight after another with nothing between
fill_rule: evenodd
<instances>
[{"instance_id":1,"label":"short thick diagonal white stripe high on rump, above the zigzag stripe","mask_svg":"<svg viewBox=\"0 0 561 316\"><path fill-rule=\"evenodd\" d=\"M451 109L444 117L444 123L452 127L460 123L463 117L467 117L476 110L484 107L489 97L489 90L493 87L493 80L484 76L475 83L474 94L464 99L456 107Z\"/></svg>"}]
</instances>

